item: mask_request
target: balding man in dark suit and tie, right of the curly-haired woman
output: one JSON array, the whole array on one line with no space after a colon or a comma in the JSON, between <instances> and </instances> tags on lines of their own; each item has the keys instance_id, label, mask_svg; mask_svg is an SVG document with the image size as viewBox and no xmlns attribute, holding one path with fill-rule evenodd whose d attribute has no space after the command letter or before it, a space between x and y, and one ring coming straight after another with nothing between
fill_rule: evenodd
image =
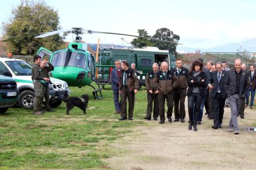
<instances>
[{"instance_id":1,"label":"balding man in dark suit and tie, right of the curly-haired woman","mask_svg":"<svg viewBox=\"0 0 256 170\"><path fill-rule=\"evenodd\" d=\"M211 73L211 101L213 104L213 129L221 128L224 113L225 100L228 97L226 90L226 71L221 67L221 63L216 63L216 71Z\"/></svg>"}]
</instances>

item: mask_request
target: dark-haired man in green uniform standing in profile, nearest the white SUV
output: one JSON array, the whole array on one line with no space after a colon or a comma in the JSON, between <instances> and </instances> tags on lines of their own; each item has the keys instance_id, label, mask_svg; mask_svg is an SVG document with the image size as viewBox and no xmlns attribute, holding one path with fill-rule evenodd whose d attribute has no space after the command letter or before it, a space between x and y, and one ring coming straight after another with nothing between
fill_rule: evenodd
<instances>
[{"instance_id":1,"label":"dark-haired man in green uniform standing in profile, nearest the white SUV","mask_svg":"<svg viewBox=\"0 0 256 170\"><path fill-rule=\"evenodd\" d=\"M33 102L33 114L42 115L41 104L43 103L43 97L45 96L45 82L49 81L49 78L43 77L43 71L40 68L41 57L35 55L33 57L34 64L32 65L32 80L35 88L35 99Z\"/></svg>"}]
</instances>

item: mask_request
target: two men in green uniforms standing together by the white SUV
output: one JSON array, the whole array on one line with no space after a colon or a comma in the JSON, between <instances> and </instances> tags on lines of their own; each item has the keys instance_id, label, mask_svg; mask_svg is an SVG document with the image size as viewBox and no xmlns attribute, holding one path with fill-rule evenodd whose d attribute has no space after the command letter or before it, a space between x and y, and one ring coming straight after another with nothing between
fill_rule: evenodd
<instances>
[{"instance_id":1,"label":"two men in green uniforms standing together by the white SUV","mask_svg":"<svg viewBox=\"0 0 256 170\"><path fill-rule=\"evenodd\" d=\"M33 102L33 114L43 115L43 99L45 99L45 111L54 111L49 103L49 71L54 67L47 60L41 60L39 55L33 57L35 63L32 65L32 80L35 88L35 99Z\"/></svg>"}]
</instances>

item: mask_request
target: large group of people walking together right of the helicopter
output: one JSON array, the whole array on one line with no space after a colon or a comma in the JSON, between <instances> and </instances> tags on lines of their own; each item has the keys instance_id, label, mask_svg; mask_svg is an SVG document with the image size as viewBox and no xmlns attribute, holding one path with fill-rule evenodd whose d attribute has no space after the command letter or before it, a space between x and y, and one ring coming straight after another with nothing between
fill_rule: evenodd
<instances>
[{"instance_id":1,"label":"large group of people walking together right of the helicopter","mask_svg":"<svg viewBox=\"0 0 256 170\"><path fill-rule=\"evenodd\" d=\"M139 89L139 80L135 68L129 68L126 61L115 63L116 68L111 71L112 89L114 93L114 105L116 113L121 113L119 120L127 119L127 97L129 102L129 119L132 120L134 110L134 97ZM120 67L121 65L121 67ZM134 64L133 64L134 65ZM182 60L176 60L176 67L169 70L167 62L153 63L152 70L148 71L145 86L147 88L147 113L144 119L157 120L160 116L160 124L168 118L173 121L185 122L185 99L187 96L189 111L189 127L197 131L197 124L202 124L203 107L205 115L213 119L213 129L222 127L224 107L228 103L231 108L229 132L239 134L237 116L241 116L242 105L244 108L250 105L253 109L256 89L256 73L254 65L250 65L250 71L242 69L242 60L234 61L234 69L229 69L226 62L207 62L203 66L203 60L197 59L192 63L190 70L182 66ZM245 67L246 68L246 67ZM249 103L249 94L250 103ZM119 102L119 95L121 100ZM245 100L246 99L246 100ZM167 103L167 115L164 115L164 105ZM246 102L245 102L246 101ZM244 118L244 115L241 116Z\"/></svg>"}]
</instances>

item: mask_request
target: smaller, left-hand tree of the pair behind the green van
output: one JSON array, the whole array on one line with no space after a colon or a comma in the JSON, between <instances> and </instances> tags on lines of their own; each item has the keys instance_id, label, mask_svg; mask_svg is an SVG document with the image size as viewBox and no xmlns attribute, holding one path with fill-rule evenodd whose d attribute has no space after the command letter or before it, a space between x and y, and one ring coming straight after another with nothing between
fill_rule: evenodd
<instances>
[{"instance_id":1,"label":"smaller, left-hand tree of the pair behind the green van","mask_svg":"<svg viewBox=\"0 0 256 170\"><path fill-rule=\"evenodd\" d=\"M145 29L143 30L138 30L139 36L143 36L146 38L134 38L132 39L132 42L130 42L130 44L132 44L135 48L142 48L145 46L154 46L153 42L150 42L148 38L150 38L150 36L148 36L147 31L145 31Z\"/></svg>"}]
</instances>

